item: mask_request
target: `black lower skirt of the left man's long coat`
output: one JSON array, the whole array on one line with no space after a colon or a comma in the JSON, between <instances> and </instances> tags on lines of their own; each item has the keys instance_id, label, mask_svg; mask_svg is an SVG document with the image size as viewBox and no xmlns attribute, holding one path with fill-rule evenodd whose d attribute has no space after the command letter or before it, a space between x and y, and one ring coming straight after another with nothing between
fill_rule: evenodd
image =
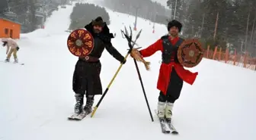
<instances>
[{"instance_id":1,"label":"black lower skirt of the left man's long coat","mask_svg":"<svg viewBox=\"0 0 256 140\"><path fill-rule=\"evenodd\" d=\"M101 62L86 62L78 60L72 80L72 88L76 94L102 95Z\"/></svg>"}]
</instances>

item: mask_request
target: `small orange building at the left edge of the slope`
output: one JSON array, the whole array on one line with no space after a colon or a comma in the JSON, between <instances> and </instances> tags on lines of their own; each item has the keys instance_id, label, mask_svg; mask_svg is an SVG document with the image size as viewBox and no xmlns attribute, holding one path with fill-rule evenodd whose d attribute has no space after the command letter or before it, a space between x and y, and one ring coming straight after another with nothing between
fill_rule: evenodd
<instances>
[{"instance_id":1,"label":"small orange building at the left edge of the slope","mask_svg":"<svg viewBox=\"0 0 256 140\"><path fill-rule=\"evenodd\" d=\"M21 23L0 17L0 38L20 39Z\"/></svg>"}]
</instances>

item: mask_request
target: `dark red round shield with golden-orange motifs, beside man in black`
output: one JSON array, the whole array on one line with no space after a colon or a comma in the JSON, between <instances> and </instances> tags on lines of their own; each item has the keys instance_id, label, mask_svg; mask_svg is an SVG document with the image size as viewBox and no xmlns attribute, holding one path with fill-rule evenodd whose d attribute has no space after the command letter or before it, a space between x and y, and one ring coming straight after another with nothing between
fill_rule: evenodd
<instances>
[{"instance_id":1,"label":"dark red round shield with golden-orange motifs, beside man in black","mask_svg":"<svg viewBox=\"0 0 256 140\"><path fill-rule=\"evenodd\" d=\"M67 41L69 51L77 57L85 57L94 48L94 39L88 30L74 30L69 34Z\"/></svg>"}]
</instances>

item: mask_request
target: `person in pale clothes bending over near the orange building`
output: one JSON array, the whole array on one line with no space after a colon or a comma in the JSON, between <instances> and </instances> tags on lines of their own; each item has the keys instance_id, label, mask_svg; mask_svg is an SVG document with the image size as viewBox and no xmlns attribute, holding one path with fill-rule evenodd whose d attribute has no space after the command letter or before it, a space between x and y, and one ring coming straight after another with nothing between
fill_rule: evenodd
<instances>
[{"instance_id":1,"label":"person in pale clothes bending over near the orange building","mask_svg":"<svg viewBox=\"0 0 256 140\"><path fill-rule=\"evenodd\" d=\"M15 42L14 39L11 39L11 38L2 39L2 42L3 42L3 47L7 46L6 48L7 58L5 59L5 62L10 61L11 54L13 53L14 63L18 63L17 51L19 50L19 47L17 42Z\"/></svg>"}]
</instances>

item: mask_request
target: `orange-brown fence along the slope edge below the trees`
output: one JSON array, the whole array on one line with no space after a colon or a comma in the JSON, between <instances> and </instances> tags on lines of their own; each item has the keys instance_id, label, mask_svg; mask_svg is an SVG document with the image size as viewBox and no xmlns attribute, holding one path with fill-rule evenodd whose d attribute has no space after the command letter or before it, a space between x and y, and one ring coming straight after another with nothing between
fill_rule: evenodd
<instances>
[{"instance_id":1,"label":"orange-brown fence along the slope edge below the trees","mask_svg":"<svg viewBox=\"0 0 256 140\"><path fill-rule=\"evenodd\" d=\"M234 54L229 54L229 48L226 48L226 51L222 51L222 48L216 47L214 51L212 51L210 50L210 46L208 46L203 57L238 67L245 67L250 70L256 70L256 58L249 57L248 53L237 54L236 50Z\"/></svg>"}]
</instances>

